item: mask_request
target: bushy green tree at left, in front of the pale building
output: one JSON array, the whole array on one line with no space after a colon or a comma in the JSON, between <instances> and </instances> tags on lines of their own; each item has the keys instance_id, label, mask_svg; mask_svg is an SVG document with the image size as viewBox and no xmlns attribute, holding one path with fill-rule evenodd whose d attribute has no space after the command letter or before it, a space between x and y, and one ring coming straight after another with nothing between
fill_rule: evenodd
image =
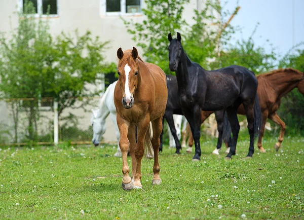
<instances>
[{"instance_id":1,"label":"bushy green tree at left, in front of the pale building","mask_svg":"<svg viewBox=\"0 0 304 220\"><path fill-rule=\"evenodd\" d=\"M37 101L13 103L15 139L17 140L18 112L22 107L28 115L28 139L37 135L38 103L51 97L58 101L59 114L73 107L78 98L90 97L88 84L102 79L102 73L115 71L115 63L106 63L102 55L108 42L93 38L91 32L75 36L63 32L53 39L48 20L33 19L32 2L19 13L19 25L11 40L0 36L0 92L2 98L34 98ZM86 102L83 102L86 104Z\"/></svg>"}]
</instances>

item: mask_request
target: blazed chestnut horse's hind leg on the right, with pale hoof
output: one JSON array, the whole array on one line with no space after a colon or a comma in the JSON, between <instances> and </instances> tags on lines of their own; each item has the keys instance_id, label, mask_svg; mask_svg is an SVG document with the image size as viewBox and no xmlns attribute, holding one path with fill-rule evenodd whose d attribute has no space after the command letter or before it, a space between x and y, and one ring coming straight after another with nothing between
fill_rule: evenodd
<instances>
[{"instance_id":1,"label":"blazed chestnut horse's hind leg on the right, with pale hoof","mask_svg":"<svg viewBox=\"0 0 304 220\"><path fill-rule=\"evenodd\" d=\"M152 122L152 128L153 128L153 137L151 139L151 143L154 150L154 165L153 165L153 179L152 184L154 185L160 185L162 182L162 179L160 177L160 164L159 164L159 147L160 147L160 134L163 130L163 124L161 119L157 119Z\"/></svg>"}]
</instances>

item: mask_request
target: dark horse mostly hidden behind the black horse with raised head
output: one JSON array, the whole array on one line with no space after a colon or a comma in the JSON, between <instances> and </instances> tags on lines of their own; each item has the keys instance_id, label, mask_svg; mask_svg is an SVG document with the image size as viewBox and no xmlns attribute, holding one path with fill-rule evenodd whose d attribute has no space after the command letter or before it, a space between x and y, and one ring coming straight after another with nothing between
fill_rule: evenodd
<instances>
[{"instance_id":1,"label":"dark horse mostly hidden behind the black horse with raised head","mask_svg":"<svg viewBox=\"0 0 304 220\"><path fill-rule=\"evenodd\" d=\"M168 101L166 105L166 112L163 118L163 128L164 128L164 119L166 119L166 121L169 124L171 133L174 137L174 141L176 145L175 153L180 154L181 145L176 135L176 129L173 121L173 114L183 115L182 107L178 98L178 84L175 76L172 75L166 75L166 76L167 76L167 88L168 88ZM216 111L214 114L215 114L217 129L219 133L216 149L220 149L222 144L222 137L224 141L229 142L229 139L231 137L231 128L226 114L225 117L223 117L224 116L223 111ZM226 132L222 135L223 130ZM160 139L161 139L161 144L160 144L159 152L163 151L163 132L161 133Z\"/></svg>"}]
</instances>

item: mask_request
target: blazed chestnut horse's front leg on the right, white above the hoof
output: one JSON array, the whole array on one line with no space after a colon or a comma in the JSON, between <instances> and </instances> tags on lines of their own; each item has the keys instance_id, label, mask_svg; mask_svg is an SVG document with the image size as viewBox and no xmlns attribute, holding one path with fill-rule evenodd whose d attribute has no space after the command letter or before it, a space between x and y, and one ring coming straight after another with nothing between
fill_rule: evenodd
<instances>
[{"instance_id":1,"label":"blazed chestnut horse's front leg on the right, white above the hoof","mask_svg":"<svg viewBox=\"0 0 304 220\"><path fill-rule=\"evenodd\" d=\"M134 182L134 189L142 189L141 185L141 160L143 157L144 149L143 149L143 142L145 139L145 135L148 130L149 126L149 117L145 117L141 120L137 125L137 144L135 147L135 158L136 158L136 172L135 172L135 182ZM148 134L150 135L150 134ZM150 141L150 140L149 140ZM157 154L158 155L158 154Z\"/></svg>"}]
</instances>

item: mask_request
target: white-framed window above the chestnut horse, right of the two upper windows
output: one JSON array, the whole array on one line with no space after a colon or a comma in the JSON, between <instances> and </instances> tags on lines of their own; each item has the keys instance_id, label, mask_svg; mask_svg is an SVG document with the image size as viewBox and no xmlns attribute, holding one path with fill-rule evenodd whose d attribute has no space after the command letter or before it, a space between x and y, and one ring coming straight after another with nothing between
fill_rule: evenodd
<instances>
[{"instance_id":1,"label":"white-framed window above the chestnut horse, right of the two upper windows","mask_svg":"<svg viewBox=\"0 0 304 220\"><path fill-rule=\"evenodd\" d=\"M141 15L143 0L100 0L102 15Z\"/></svg>"}]
</instances>

